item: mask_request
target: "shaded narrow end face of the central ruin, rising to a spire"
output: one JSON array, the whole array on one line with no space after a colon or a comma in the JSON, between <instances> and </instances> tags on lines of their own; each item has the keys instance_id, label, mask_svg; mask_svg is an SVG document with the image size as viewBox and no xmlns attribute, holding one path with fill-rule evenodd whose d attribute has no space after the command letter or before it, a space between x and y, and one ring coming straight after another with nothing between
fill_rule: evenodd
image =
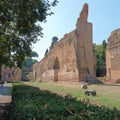
<instances>
[{"instance_id":1,"label":"shaded narrow end face of the central ruin, rising to a spire","mask_svg":"<svg viewBox=\"0 0 120 120\"><path fill-rule=\"evenodd\" d=\"M85 3L76 24L75 51L79 81L86 80L87 75L95 76L92 46L92 23L87 22L88 4Z\"/></svg>"}]
</instances>

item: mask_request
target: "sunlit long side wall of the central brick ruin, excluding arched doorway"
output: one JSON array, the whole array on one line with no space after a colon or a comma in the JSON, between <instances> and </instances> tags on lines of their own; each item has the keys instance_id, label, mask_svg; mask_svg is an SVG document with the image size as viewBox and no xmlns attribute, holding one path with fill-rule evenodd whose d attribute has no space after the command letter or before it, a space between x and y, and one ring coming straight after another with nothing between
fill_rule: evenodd
<instances>
[{"instance_id":1,"label":"sunlit long side wall of the central brick ruin, excluding arched doorway","mask_svg":"<svg viewBox=\"0 0 120 120\"><path fill-rule=\"evenodd\" d=\"M76 55L74 49L74 31L66 34L64 38L58 41L53 49L48 53L40 63L33 66L37 80L53 80L54 78L54 62L58 58L59 61L59 80L78 81L78 70L76 65ZM39 67L39 69L38 69ZM35 74L35 73L34 73ZM39 75L38 75L39 74ZM40 75L42 74L42 75ZM39 77L37 77L39 76ZM41 76L41 77L40 77Z\"/></svg>"}]
</instances>

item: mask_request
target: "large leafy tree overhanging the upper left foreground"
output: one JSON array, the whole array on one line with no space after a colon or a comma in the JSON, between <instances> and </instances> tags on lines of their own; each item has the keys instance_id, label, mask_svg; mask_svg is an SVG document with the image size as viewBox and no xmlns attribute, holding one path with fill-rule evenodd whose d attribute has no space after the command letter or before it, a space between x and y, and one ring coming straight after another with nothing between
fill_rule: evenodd
<instances>
[{"instance_id":1,"label":"large leafy tree overhanging the upper left foreground","mask_svg":"<svg viewBox=\"0 0 120 120\"><path fill-rule=\"evenodd\" d=\"M41 22L52 15L57 0L0 0L0 67L18 67L30 56L32 43L42 37Z\"/></svg>"}]
</instances>

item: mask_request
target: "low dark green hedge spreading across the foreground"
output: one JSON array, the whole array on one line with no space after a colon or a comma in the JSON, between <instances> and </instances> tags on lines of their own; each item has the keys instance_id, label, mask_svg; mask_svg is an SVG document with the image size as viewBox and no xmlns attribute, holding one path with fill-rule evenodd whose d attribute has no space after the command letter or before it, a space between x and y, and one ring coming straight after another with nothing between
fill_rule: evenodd
<instances>
[{"instance_id":1,"label":"low dark green hedge spreading across the foreground","mask_svg":"<svg viewBox=\"0 0 120 120\"><path fill-rule=\"evenodd\" d=\"M120 111L27 85L13 85L10 120L119 120Z\"/></svg>"}]
</instances>

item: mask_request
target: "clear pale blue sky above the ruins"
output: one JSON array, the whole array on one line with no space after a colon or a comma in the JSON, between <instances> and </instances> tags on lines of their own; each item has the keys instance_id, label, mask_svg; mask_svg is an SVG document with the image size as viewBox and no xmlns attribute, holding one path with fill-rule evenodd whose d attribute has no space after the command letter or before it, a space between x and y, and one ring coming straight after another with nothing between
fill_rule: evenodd
<instances>
[{"instance_id":1,"label":"clear pale blue sky above the ruins","mask_svg":"<svg viewBox=\"0 0 120 120\"><path fill-rule=\"evenodd\" d=\"M88 3L88 22L93 25L93 43L101 44L110 36L113 30L120 28L120 0L59 0L56 7L52 8L54 15L47 17L47 22L42 23L43 38L33 45L33 51L39 55L40 61L49 49L52 38L59 40L66 33L76 28L77 18Z\"/></svg>"}]
</instances>

